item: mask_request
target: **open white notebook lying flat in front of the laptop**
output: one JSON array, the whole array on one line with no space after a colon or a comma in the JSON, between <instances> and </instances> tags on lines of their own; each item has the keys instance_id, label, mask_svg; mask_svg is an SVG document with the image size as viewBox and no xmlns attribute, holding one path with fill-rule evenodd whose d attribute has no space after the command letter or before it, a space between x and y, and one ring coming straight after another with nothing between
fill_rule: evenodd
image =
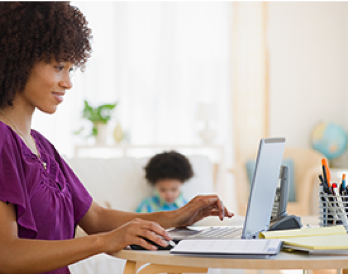
<instances>
[{"instance_id":1,"label":"open white notebook lying flat in front of the laptop","mask_svg":"<svg viewBox=\"0 0 348 274\"><path fill-rule=\"evenodd\" d=\"M280 239L187 239L170 250L171 254L228 258L268 258L277 255Z\"/></svg>"}]
</instances>

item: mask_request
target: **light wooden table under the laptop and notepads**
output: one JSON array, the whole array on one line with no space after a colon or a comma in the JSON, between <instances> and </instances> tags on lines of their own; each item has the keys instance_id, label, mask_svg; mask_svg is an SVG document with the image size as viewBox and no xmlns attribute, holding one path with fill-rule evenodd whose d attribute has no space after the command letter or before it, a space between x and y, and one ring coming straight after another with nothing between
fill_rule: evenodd
<instances>
[{"instance_id":1,"label":"light wooden table under the laptop and notepads","mask_svg":"<svg viewBox=\"0 0 348 274\"><path fill-rule=\"evenodd\" d=\"M348 256L313 256L280 252L268 259L226 259L172 255L168 251L121 250L114 254L127 260L124 274L134 274L144 262L150 263L139 274L147 273L206 273L208 268L235 269L342 269L348 268Z\"/></svg>"}]
</instances>

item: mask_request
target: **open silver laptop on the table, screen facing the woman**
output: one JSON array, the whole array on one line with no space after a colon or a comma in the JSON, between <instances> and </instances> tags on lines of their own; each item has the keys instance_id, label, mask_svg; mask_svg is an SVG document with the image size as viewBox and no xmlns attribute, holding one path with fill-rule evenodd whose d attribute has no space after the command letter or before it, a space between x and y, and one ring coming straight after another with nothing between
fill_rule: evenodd
<instances>
[{"instance_id":1,"label":"open silver laptop on the table, screen facing the woman","mask_svg":"<svg viewBox=\"0 0 348 274\"><path fill-rule=\"evenodd\" d=\"M267 231L272 215L276 188L285 148L285 138L261 139L248 200L244 225L209 229L174 229L168 231L173 241L182 239L255 239ZM238 184L238 182L236 182Z\"/></svg>"}]
</instances>

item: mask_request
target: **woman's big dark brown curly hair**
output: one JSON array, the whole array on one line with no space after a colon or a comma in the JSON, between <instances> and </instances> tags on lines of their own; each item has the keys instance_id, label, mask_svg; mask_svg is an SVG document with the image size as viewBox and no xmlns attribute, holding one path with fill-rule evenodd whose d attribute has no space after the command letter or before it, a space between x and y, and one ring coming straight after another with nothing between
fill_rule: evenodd
<instances>
[{"instance_id":1,"label":"woman's big dark brown curly hair","mask_svg":"<svg viewBox=\"0 0 348 274\"><path fill-rule=\"evenodd\" d=\"M36 62L83 70L91 39L85 17L68 2L0 2L0 108L13 105Z\"/></svg>"}]
</instances>

